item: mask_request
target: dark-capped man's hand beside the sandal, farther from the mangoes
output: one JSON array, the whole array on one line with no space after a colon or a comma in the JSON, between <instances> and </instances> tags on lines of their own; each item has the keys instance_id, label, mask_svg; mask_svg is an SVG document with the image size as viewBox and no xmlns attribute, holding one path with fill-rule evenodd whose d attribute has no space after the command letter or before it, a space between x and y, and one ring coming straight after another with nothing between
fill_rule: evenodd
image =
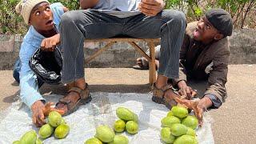
<instances>
[{"instance_id":1,"label":"dark-capped man's hand beside the sandal, farther from the mangoes","mask_svg":"<svg viewBox=\"0 0 256 144\"><path fill-rule=\"evenodd\" d=\"M185 81L178 82L178 94L186 96L188 99L192 99L197 93L190 87L186 85Z\"/></svg>"}]
</instances>

